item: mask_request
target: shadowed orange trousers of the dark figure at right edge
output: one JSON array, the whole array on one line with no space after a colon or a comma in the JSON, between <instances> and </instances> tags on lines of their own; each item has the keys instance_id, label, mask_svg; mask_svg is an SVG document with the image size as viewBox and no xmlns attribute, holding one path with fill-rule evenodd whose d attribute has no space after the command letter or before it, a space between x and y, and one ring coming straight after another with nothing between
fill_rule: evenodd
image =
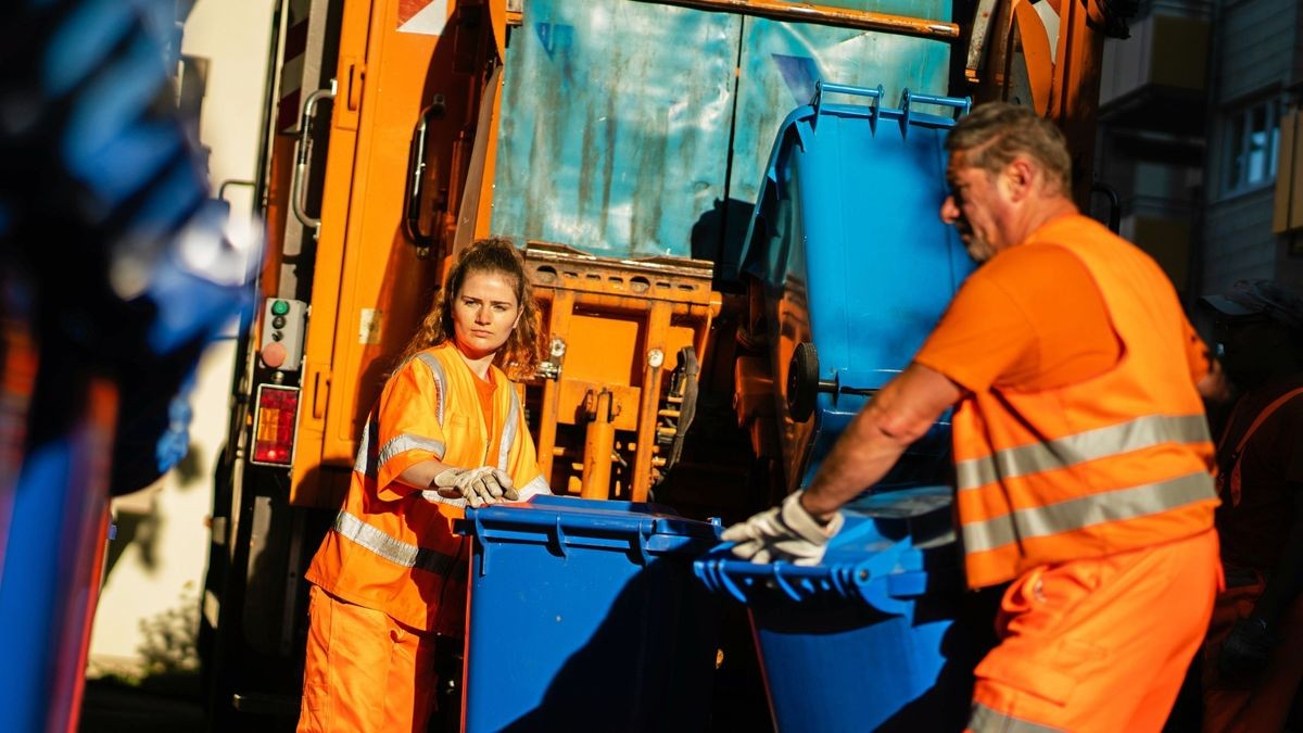
<instances>
[{"instance_id":1,"label":"shadowed orange trousers of the dark figure at right edge","mask_svg":"<svg viewBox=\"0 0 1303 733\"><path fill-rule=\"evenodd\" d=\"M1230 575L1243 575L1233 573ZM1294 694L1303 680L1303 599L1285 612L1278 623L1283 636L1260 677L1243 685L1222 682L1217 655L1235 621L1253 612L1265 583L1253 574L1251 583L1227 587L1217 595L1213 621L1204 644L1204 730L1208 733L1277 733L1285 728Z\"/></svg>"}]
</instances>

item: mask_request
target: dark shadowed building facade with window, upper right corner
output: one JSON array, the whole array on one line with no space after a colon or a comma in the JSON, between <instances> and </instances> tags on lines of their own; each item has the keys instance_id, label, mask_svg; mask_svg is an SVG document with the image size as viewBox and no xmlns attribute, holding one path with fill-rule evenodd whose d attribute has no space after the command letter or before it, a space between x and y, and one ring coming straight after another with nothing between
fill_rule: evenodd
<instances>
[{"instance_id":1,"label":"dark shadowed building facade with window, upper right corner","mask_svg":"<svg viewBox=\"0 0 1303 733\"><path fill-rule=\"evenodd\" d=\"M1240 278L1303 290L1300 82L1296 0L1145 1L1108 42L1097 177L1187 305Z\"/></svg>"}]
</instances>

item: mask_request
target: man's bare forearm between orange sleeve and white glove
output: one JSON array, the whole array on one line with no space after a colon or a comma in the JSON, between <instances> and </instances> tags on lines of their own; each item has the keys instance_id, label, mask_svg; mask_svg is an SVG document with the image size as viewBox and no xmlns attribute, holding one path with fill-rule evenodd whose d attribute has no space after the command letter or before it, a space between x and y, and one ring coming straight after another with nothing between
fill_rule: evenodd
<instances>
[{"instance_id":1,"label":"man's bare forearm between orange sleeve and white glove","mask_svg":"<svg viewBox=\"0 0 1303 733\"><path fill-rule=\"evenodd\" d=\"M801 496L801 506L821 522L831 519L881 480L962 395L941 372L911 364L851 420Z\"/></svg>"}]
</instances>

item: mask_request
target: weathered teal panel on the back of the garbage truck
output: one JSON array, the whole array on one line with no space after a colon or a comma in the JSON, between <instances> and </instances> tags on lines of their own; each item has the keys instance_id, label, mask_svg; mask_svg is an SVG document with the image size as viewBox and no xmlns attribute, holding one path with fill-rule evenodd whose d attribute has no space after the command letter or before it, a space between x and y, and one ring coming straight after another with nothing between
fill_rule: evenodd
<instances>
[{"instance_id":1,"label":"weathered teal panel on the back of the garbage truck","mask_svg":"<svg viewBox=\"0 0 1303 733\"><path fill-rule=\"evenodd\" d=\"M947 0L825 5L950 21ZM736 275L774 136L818 80L943 90L942 40L636 0L528 0L507 48L493 233Z\"/></svg>"}]
</instances>

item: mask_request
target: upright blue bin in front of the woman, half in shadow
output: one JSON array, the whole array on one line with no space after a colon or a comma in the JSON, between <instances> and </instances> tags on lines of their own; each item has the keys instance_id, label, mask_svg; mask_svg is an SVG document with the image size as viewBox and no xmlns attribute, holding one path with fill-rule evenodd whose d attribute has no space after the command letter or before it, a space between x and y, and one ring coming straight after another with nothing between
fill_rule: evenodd
<instances>
[{"instance_id":1,"label":"upright blue bin in front of the woman, half in shadow","mask_svg":"<svg viewBox=\"0 0 1303 733\"><path fill-rule=\"evenodd\" d=\"M692 561L717 524L649 503L468 509L465 730L704 730L719 599Z\"/></svg>"}]
</instances>

